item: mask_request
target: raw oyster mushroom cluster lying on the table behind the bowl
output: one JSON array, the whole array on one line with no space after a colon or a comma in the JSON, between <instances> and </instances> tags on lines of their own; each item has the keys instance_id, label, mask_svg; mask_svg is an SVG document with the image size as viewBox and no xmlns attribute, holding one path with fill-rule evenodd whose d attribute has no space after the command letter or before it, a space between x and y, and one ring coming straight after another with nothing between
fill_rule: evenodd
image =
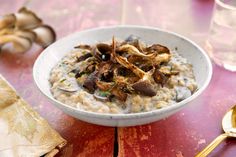
<instances>
[{"instance_id":1,"label":"raw oyster mushroom cluster lying on the table behind the bowl","mask_svg":"<svg viewBox=\"0 0 236 157\"><path fill-rule=\"evenodd\" d=\"M0 17L0 50L3 47L11 47L11 51L23 53L29 50L34 42L45 48L55 40L54 30L25 7L15 14Z\"/></svg>"}]
</instances>

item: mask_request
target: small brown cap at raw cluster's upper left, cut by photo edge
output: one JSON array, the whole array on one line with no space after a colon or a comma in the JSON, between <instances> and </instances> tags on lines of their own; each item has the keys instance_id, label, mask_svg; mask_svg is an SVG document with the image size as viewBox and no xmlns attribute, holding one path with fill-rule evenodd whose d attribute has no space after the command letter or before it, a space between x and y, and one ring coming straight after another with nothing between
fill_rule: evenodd
<instances>
[{"instance_id":1,"label":"small brown cap at raw cluster's upper left, cut by photo edge","mask_svg":"<svg viewBox=\"0 0 236 157\"><path fill-rule=\"evenodd\" d=\"M14 14L0 16L0 29L13 27L15 22L16 16Z\"/></svg>"}]
</instances>

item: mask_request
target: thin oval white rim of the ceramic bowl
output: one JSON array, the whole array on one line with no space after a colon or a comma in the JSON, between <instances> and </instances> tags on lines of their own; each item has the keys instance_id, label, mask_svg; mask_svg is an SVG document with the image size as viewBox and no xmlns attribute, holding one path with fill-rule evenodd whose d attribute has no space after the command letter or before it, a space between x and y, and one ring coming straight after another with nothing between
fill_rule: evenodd
<instances>
[{"instance_id":1,"label":"thin oval white rim of the ceramic bowl","mask_svg":"<svg viewBox=\"0 0 236 157\"><path fill-rule=\"evenodd\" d=\"M199 88L193 95L191 95L190 97L188 97L187 99L184 99L181 102L175 103L173 105L161 108L161 109L156 109L156 110L152 110L152 111L147 111L147 112L138 112L138 113L128 113L128 114L124 114L124 113L97 113L97 112L91 112L91 111L85 111L85 110L80 110L79 108L75 108L69 105L66 105L58 100L56 100L55 98L53 98L52 96L46 94L43 89L40 87L39 83L38 83L38 79L36 77L36 68L39 67L39 62L42 58L42 56L44 56L44 54L46 54L48 52L49 49L51 49L52 47L54 47L55 43L58 43L62 40L68 40L69 38L72 38L72 36L78 36L82 33L87 33L87 32L93 32L93 31L98 31L101 29L116 29L116 28L133 28L133 29L148 29L148 30L152 30L152 31L160 31L160 32L165 32L174 36L177 36L187 42L189 42L190 44L192 44L194 47L196 47L199 51L201 51L202 55L204 56L206 63L207 63L207 67L209 69L209 73L207 76L207 79L205 80L204 84L202 85L201 88ZM72 112L76 112L76 114L80 114L82 116L89 116L89 117L93 117L93 118L99 118L99 119L129 119L129 118L142 118L142 117L151 117L153 115L161 115L161 114L165 114L165 113L169 113L171 111L174 110L178 110L179 108L183 107L184 105L187 105L187 103L189 103L190 101L194 100L196 97L198 97L205 89L206 87L209 85L210 80L212 78L212 73L213 73L213 69L212 69L212 64L210 61L210 58L208 57L208 55L206 54L206 52L200 47L198 46L196 43L194 43L192 40L178 34L178 33L174 33L172 31L168 31L168 30L164 30L164 29L160 29L157 27L149 27L149 26L138 26L138 25L116 25L116 26L106 26L106 27L96 27L96 28L92 28L92 29L88 29L88 30L83 30L80 32L76 32L76 33L72 33L69 34L66 37L63 37L61 39L59 39L58 41L56 41L55 43L53 43L52 45L50 45L49 47L47 47L45 50L43 50L43 52L41 52L41 54L38 56L38 58L36 59L34 66L33 66L33 79L34 82L36 84L36 86L38 87L39 91L45 95L49 100L51 100L51 102L54 102L53 104L56 105L57 107L63 106L64 108L72 111ZM56 104L55 104L56 103ZM60 108L60 107L59 107Z\"/></svg>"}]
</instances>

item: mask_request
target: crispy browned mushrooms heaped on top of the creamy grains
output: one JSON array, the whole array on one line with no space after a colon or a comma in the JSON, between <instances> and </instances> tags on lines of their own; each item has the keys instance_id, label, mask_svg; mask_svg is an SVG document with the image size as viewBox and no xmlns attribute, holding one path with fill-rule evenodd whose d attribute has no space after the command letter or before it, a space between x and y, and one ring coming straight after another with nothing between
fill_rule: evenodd
<instances>
[{"instance_id":1,"label":"crispy browned mushrooms heaped on top of the creamy grains","mask_svg":"<svg viewBox=\"0 0 236 157\"><path fill-rule=\"evenodd\" d=\"M154 86L164 86L178 71L162 68L171 59L165 46L145 46L130 36L123 42L112 39L111 44L78 45L83 55L76 62L81 66L71 72L85 90L102 101L125 102L128 95L155 96ZM82 66L83 65L83 66Z\"/></svg>"}]
</instances>

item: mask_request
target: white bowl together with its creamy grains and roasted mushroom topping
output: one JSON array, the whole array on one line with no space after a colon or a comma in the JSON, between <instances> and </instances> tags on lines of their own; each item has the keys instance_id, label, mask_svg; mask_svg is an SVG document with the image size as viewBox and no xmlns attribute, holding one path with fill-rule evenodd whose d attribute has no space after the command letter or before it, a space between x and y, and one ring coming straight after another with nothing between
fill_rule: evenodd
<instances>
[{"instance_id":1,"label":"white bowl together with its creamy grains and roasted mushroom topping","mask_svg":"<svg viewBox=\"0 0 236 157\"><path fill-rule=\"evenodd\" d=\"M199 97L211 76L209 57L193 41L142 26L74 33L46 48L33 68L52 104L104 126L166 118Z\"/></svg>"}]
</instances>

